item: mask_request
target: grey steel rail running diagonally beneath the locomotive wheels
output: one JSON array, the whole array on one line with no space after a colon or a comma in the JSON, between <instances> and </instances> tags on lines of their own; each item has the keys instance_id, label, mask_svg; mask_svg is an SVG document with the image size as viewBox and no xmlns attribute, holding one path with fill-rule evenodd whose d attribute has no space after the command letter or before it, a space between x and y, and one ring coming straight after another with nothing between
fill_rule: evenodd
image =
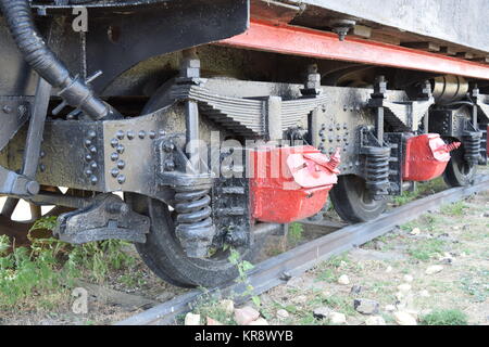
<instances>
[{"instance_id":1,"label":"grey steel rail running diagonally beneath the locomotive wheels","mask_svg":"<svg viewBox=\"0 0 489 347\"><path fill-rule=\"evenodd\" d=\"M489 190L489 175L480 175L476 177L474 184L471 187L449 189L411 202L384 214L376 220L344 227L260 262L255 265L248 277L249 283L254 288L253 294L260 295L274 286L286 283L290 278L300 275L318 262L372 241L389 232L396 226L416 219L427 211L435 211L443 204L454 203L486 190ZM237 294L239 296L243 292L244 285L242 283L229 283L212 288L205 295L225 297L229 294ZM202 295L204 295L202 291L193 290L145 312L120 321L115 325L173 324L176 317L190 311L192 305ZM244 299L242 298L242 300Z\"/></svg>"}]
</instances>

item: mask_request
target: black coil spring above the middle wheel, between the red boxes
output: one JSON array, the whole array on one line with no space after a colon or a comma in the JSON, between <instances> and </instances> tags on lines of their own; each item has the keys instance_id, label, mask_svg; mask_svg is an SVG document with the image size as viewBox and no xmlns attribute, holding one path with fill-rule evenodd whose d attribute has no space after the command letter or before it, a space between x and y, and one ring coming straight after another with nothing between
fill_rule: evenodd
<instances>
[{"instance_id":1,"label":"black coil spring above the middle wheel, between the red boxes","mask_svg":"<svg viewBox=\"0 0 489 347\"><path fill-rule=\"evenodd\" d=\"M366 151L366 187L374 198L388 194L389 188L389 147L369 147Z\"/></svg>"}]
</instances>

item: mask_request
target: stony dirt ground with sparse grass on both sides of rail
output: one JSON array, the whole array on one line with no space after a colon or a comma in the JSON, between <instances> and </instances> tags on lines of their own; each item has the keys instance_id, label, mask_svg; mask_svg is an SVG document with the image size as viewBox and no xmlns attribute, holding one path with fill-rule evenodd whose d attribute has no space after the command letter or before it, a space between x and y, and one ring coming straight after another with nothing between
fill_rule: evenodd
<instances>
[{"instance_id":1,"label":"stony dirt ground with sparse grass on both sides of rail","mask_svg":"<svg viewBox=\"0 0 489 347\"><path fill-rule=\"evenodd\" d=\"M333 216L330 211L326 215ZM333 216L331 228L326 232L338 228L338 222ZM288 241L276 239L272 241L275 246L268 247L263 258L324 233L325 229L309 226L292 239L289 235ZM37 303L42 300L42 294L39 294L22 310L0 312L0 325L111 324L185 293L152 274L134 247L124 252L136 261L129 271L111 273L101 285L80 280L78 286L88 291L87 313L75 313L76 298L60 287L55 307L40 308ZM432 270L432 266L441 268L428 274L426 271ZM316 266L261 295L258 310L264 319L262 323L274 325L372 324L378 323L377 318L386 324L399 324L400 311L423 323L424 317L439 310L456 310L466 316L468 324L488 325L488 297L489 193L486 192L443 206L439 213L424 215ZM355 299L374 303L374 311L359 312ZM199 309L204 312L202 323L206 317L236 323L234 313L213 309L215 303L205 305L209 307ZM331 312L339 313L333 321Z\"/></svg>"}]
</instances>

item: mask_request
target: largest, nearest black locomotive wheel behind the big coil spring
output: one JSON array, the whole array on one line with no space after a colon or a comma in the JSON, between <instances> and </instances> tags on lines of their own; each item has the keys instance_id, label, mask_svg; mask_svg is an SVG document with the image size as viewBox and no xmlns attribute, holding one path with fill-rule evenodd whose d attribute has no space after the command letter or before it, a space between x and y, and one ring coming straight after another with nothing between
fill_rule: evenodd
<instances>
[{"instance_id":1,"label":"largest, nearest black locomotive wheel behind the big coil spring","mask_svg":"<svg viewBox=\"0 0 489 347\"><path fill-rule=\"evenodd\" d=\"M145 196L134 196L133 208L151 218L150 232L145 244L136 244L145 264L159 275L177 286L213 287L235 279L238 271L228 260L229 250L217 250L205 259L189 258L175 235L168 205ZM237 249L241 259L250 260L256 248Z\"/></svg>"}]
</instances>

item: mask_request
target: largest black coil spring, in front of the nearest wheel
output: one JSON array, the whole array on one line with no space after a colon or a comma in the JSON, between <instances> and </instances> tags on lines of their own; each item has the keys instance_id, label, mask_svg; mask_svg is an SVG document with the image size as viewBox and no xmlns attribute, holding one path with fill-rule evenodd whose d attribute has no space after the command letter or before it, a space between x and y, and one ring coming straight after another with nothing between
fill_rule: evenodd
<instances>
[{"instance_id":1,"label":"largest black coil spring, in front of the nearest wheel","mask_svg":"<svg viewBox=\"0 0 489 347\"><path fill-rule=\"evenodd\" d=\"M176 189L175 233L189 257L205 257L215 233L210 189Z\"/></svg>"}]
</instances>

